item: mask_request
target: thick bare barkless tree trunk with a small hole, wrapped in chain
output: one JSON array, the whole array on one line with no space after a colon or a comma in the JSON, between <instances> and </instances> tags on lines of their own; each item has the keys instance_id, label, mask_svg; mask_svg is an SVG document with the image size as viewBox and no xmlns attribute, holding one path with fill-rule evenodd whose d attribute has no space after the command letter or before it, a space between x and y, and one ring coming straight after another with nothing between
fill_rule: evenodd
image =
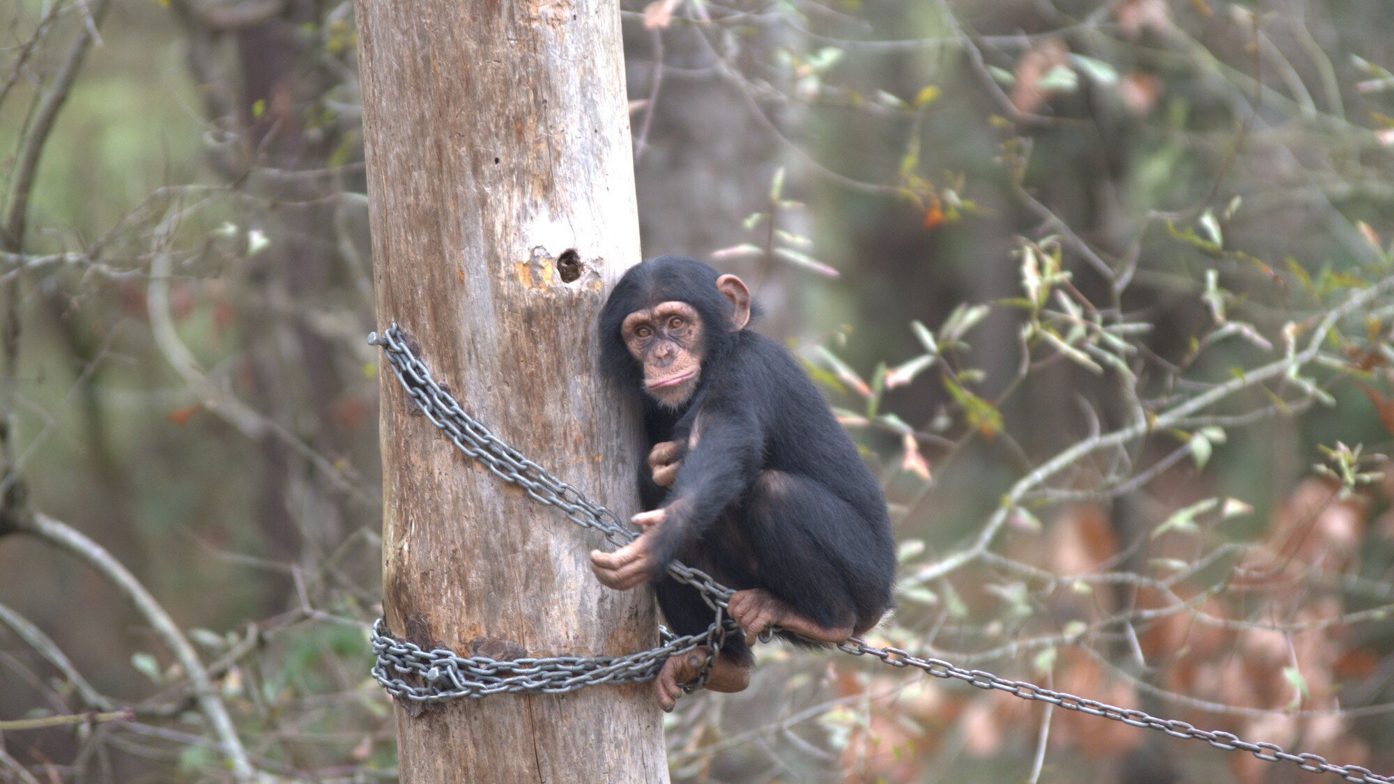
<instances>
[{"instance_id":1,"label":"thick bare barkless tree trunk with a small hole, wrapped in chain","mask_svg":"<svg viewBox=\"0 0 1394 784\"><path fill-rule=\"evenodd\" d=\"M496 435L636 511L640 425L597 374L595 315L638 261L613 0L358 0L378 321ZM573 251L581 261L558 268ZM597 533L464 458L382 371L388 628L461 654L657 644L604 589ZM647 685L399 706L401 780L666 781Z\"/></svg>"}]
</instances>

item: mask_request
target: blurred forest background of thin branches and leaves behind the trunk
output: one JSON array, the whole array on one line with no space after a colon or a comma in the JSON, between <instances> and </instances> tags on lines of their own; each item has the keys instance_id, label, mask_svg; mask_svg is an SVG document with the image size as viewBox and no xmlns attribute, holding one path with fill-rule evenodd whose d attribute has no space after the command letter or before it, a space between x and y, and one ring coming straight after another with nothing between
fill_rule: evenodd
<instances>
[{"instance_id":1,"label":"blurred forest background of thin branches and leaves behind the trunk","mask_svg":"<svg viewBox=\"0 0 1394 784\"><path fill-rule=\"evenodd\" d=\"M877 639L1394 770L1394 6L622 6L644 254L750 280L864 448ZM201 677L258 770L395 780L353 4L0 20L0 781L226 777ZM1316 781L778 646L666 737L676 781Z\"/></svg>"}]
</instances>

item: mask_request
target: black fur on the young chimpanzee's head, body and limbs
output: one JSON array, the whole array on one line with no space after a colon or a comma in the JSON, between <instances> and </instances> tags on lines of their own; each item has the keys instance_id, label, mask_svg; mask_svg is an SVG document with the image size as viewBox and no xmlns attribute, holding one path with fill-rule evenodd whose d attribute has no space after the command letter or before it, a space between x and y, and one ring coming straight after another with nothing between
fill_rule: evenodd
<instances>
[{"instance_id":1,"label":"black fur on the young chimpanzee's head, body and limbs","mask_svg":"<svg viewBox=\"0 0 1394 784\"><path fill-rule=\"evenodd\" d=\"M717 278L691 258L651 258L625 273L601 311L604 371L643 399L648 448L683 445L671 488L641 472L644 508L669 512L658 562L676 557L733 589L764 589L824 626L864 631L892 605L895 543L881 487L789 352L729 328L733 307ZM643 393L620 325L675 300L701 317L705 359L691 399L669 410ZM697 446L687 451L698 419ZM654 587L669 626L705 629L712 614L697 591L659 573ZM722 654L750 660L740 638L728 638Z\"/></svg>"}]
</instances>

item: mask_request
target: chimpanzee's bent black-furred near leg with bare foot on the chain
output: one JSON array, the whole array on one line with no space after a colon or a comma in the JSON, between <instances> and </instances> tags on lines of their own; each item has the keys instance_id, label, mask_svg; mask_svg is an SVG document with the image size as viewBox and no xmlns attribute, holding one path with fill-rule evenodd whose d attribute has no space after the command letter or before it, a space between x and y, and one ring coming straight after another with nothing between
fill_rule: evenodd
<instances>
[{"instance_id":1,"label":"chimpanzee's bent black-furred near leg with bare foot on the chain","mask_svg":"<svg viewBox=\"0 0 1394 784\"><path fill-rule=\"evenodd\" d=\"M761 472L742 526L757 590L732 597L732 618L750 638L778 624L818 642L874 626L891 607L895 571L884 527L821 484Z\"/></svg>"}]
</instances>

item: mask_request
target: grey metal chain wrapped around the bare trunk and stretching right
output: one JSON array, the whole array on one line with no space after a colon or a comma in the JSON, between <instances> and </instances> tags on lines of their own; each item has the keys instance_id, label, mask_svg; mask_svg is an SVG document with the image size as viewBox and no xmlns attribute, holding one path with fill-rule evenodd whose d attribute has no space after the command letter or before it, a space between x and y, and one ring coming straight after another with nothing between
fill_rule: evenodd
<instances>
[{"instance_id":1,"label":"grey metal chain wrapped around the bare trunk and stretching right","mask_svg":"<svg viewBox=\"0 0 1394 784\"><path fill-rule=\"evenodd\" d=\"M503 481L517 484L539 504L562 509L573 523L599 530L612 544L625 545L634 540L636 534L620 525L615 512L590 502L579 490L523 458L464 413L454 398L431 378L431 371L407 346L407 339L396 322L392 322L381 336L376 332L368 335L368 343L383 349L407 395L461 452L482 462ZM372 677L395 698L418 703L482 698L499 692L565 693L594 684L651 681L668 657L708 646L701 677L684 685L684 691L690 692L705 682L726 633L742 633L725 615L726 601L735 591L701 569L676 561L668 566L668 573L675 580L696 587L715 611L715 619L704 633L676 638L659 628L662 635L659 647L629 656L553 656L498 661L485 656L461 657L446 649L424 650L411 642L388 635L379 618L372 625L372 650L378 657ZM1365 784L1394 784L1394 777L1372 773L1358 764L1335 764L1313 753L1295 755L1276 744L1255 744L1231 732L1197 730L1175 718L1158 718L1142 710L1057 692L1026 681L1012 681L983 670L965 670L942 658L919 657L898 647L875 647L861 638L848 639L838 646L838 650L852 656L874 656L891 667L913 667L935 678L963 681L980 689L995 689L1025 700L1046 702L1064 710L1121 721L1129 727L1157 730L1172 738L1204 741L1217 749L1249 752L1263 762L1292 763L1309 773L1334 773L1347 781Z\"/></svg>"}]
</instances>

